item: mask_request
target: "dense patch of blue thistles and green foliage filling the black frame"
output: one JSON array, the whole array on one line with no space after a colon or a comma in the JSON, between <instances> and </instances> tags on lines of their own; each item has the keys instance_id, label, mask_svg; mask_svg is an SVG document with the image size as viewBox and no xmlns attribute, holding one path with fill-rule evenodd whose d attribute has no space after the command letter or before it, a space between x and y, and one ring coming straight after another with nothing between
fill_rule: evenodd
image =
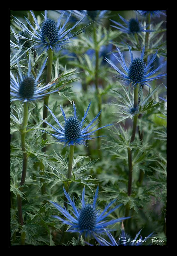
<instances>
[{"instance_id":1,"label":"dense patch of blue thistles and green foliage filling the black frame","mask_svg":"<svg viewBox=\"0 0 177 256\"><path fill-rule=\"evenodd\" d=\"M11 10L11 246L166 246L166 10Z\"/></svg>"}]
</instances>

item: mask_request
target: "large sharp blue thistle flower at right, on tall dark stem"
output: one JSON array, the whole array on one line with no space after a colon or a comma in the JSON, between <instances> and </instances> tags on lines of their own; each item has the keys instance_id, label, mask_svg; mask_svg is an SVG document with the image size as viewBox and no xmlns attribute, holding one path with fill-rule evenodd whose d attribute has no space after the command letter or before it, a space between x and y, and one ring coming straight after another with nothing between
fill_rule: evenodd
<instances>
[{"instance_id":1,"label":"large sharp blue thistle flower at right, on tall dark stem","mask_svg":"<svg viewBox=\"0 0 177 256\"><path fill-rule=\"evenodd\" d=\"M129 45L128 45L129 47ZM117 48L117 47L116 47ZM114 68L118 73L119 76L117 78L121 79L124 81L123 84L129 85L132 84L132 86L135 86L137 84L141 84L142 86L147 85L150 87L148 83L155 79L163 78L163 76L166 76L166 74L159 74L154 76L159 69L166 64L166 62L161 63L159 67L154 68L153 70L151 69L151 64L156 58L157 52L152 56L151 60L146 64L144 63L144 48L143 51L141 52L141 55L139 58L133 59L133 54L132 51L129 47L129 53L130 53L130 64L127 66L124 56L120 52L120 50L117 48L117 51L119 52L120 59L113 53L114 57L118 60L118 62L121 64L121 67L123 70L120 70L118 67L114 65L114 63L111 60L107 60L107 62Z\"/></svg>"}]
</instances>

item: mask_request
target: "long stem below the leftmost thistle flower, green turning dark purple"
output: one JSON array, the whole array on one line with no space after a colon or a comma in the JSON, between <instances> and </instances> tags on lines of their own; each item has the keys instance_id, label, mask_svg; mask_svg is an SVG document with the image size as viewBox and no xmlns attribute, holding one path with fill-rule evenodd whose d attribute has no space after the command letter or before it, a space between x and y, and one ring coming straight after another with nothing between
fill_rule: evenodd
<instances>
[{"instance_id":1,"label":"long stem below the leftmost thistle flower, green turning dark purple","mask_svg":"<svg viewBox=\"0 0 177 256\"><path fill-rule=\"evenodd\" d=\"M20 185L25 184L26 179L26 170L27 170L27 153L26 153L26 143L25 143L25 137L26 137L26 126L27 126L27 120L28 120L28 101L24 102L24 113L23 113L23 124L21 129L21 146L22 146L22 152L23 152L23 169L22 169L22 176ZM20 187L19 190L22 191L23 187ZM21 226L24 225L23 222L23 215L22 215L22 204L21 204L21 196L17 195L17 207L18 207L18 218L19 223ZM21 245L25 245L25 232L21 233Z\"/></svg>"}]
</instances>

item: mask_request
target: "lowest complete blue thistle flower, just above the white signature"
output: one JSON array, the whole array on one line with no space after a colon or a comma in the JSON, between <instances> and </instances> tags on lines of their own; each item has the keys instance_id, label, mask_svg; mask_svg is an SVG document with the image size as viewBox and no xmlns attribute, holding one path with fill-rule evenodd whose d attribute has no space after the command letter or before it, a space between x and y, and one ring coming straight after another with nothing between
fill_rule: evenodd
<instances>
[{"instance_id":1,"label":"lowest complete blue thistle flower, just above the white signature","mask_svg":"<svg viewBox=\"0 0 177 256\"><path fill-rule=\"evenodd\" d=\"M62 221L64 224L67 224L70 226L70 228L67 230L68 232L78 232L80 235L84 232L85 236L96 236L96 234L105 233L106 231L110 231L110 229L106 228L109 225L113 225L114 223L120 222L125 219L129 219L130 217L123 217L118 218L114 220L108 220L106 221L107 216L114 212L117 208L119 208L122 204L119 204L115 206L114 208L108 210L112 204L115 203L116 200L111 201L109 204L107 204L102 212L97 209L96 201L98 198L98 187L95 193L95 196L93 196L93 203L92 204L86 204L85 200L85 187L82 192L82 198L80 198L81 201L81 209L77 209L74 199L71 200L69 194L66 192L66 190L63 188L64 194L67 198L67 204L72 206L72 212L74 214L71 215L69 211L66 210L66 208L61 207L59 204L50 201L55 208L63 214L64 219L62 219L59 216L53 215L54 218L57 218L58 220ZM108 211L108 212L107 212Z\"/></svg>"}]
</instances>

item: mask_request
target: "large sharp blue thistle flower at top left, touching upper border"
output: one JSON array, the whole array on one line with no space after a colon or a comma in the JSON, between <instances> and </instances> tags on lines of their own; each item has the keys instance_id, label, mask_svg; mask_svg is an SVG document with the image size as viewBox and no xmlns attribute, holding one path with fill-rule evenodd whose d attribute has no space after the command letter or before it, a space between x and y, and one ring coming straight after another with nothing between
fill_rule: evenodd
<instances>
[{"instance_id":1,"label":"large sharp blue thistle flower at top left, touching upper border","mask_svg":"<svg viewBox=\"0 0 177 256\"><path fill-rule=\"evenodd\" d=\"M83 28L81 28L77 32L71 33L72 30L77 27L78 23L81 20L78 20L74 26L67 29L67 23L70 20L72 12L70 12L63 25L61 20L65 13L64 11L62 12L58 20L55 21L51 18L48 18L47 10L45 10L44 20L41 22L41 24L38 23L34 13L32 11L30 12L33 16L36 28L32 26L32 24L29 20L26 19L26 17L25 19L30 28L32 28L32 31L30 31L30 29L28 29L26 25L17 18L15 18L16 23L33 38L32 41L34 42L35 47L41 48L42 51L46 52L50 48L53 51L58 52L60 49L63 49L68 42L70 42L70 39L72 37L77 36L78 34L83 32L81 31Z\"/></svg>"}]
</instances>

